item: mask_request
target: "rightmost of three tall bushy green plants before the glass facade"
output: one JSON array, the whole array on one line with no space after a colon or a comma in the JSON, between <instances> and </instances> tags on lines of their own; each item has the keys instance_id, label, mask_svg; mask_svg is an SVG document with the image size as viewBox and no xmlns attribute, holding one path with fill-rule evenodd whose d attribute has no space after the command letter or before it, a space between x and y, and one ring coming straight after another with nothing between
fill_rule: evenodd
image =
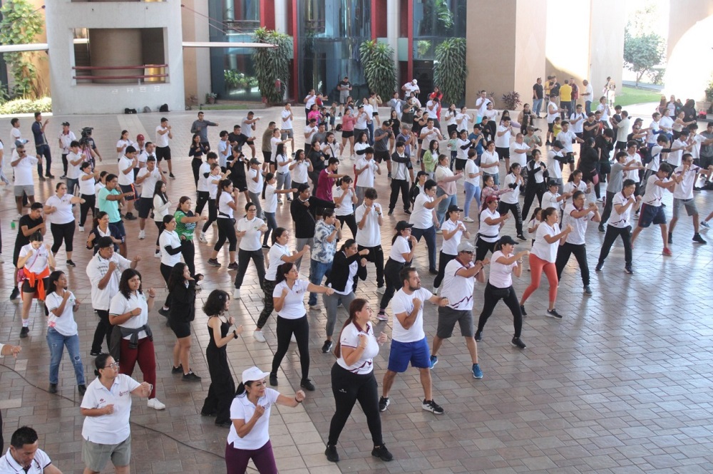
<instances>
[{"instance_id":1,"label":"rightmost of three tall bushy green plants before the glass facade","mask_svg":"<svg viewBox=\"0 0 713 474\"><path fill-rule=\"evenodd\" d=\"M447 38L436 47L434 84L443 92L443 103L462 104L466 98L466 39Z\"/></svg>"}]
</instances>

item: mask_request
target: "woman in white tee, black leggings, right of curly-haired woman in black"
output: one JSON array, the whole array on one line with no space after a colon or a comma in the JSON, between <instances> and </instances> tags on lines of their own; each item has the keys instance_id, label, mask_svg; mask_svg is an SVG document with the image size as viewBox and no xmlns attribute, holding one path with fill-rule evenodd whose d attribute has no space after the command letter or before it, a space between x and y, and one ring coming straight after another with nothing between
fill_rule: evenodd
<instances>
[{"instance_id":1,"label":"woman in white tee, black leggings, right of curly-haired woman in black","mask_svg":"<svg viewBox=\"0 0 713 474\"><path fill-rule=\"evenodd\" d=\"M292 262L285 262L277 267L275 289L272 291L272 304L277 311L277 351L272 359L270 385L277 386L277 369L287 354L289 340L294 334L299 351L299 365L302 368L302 380L299 386L314 391L309 381L309 322L304 310L304 295L307 293L334 294L334 289L323 287L299 279L297 267Z\"/></svg>"}]
</instances>

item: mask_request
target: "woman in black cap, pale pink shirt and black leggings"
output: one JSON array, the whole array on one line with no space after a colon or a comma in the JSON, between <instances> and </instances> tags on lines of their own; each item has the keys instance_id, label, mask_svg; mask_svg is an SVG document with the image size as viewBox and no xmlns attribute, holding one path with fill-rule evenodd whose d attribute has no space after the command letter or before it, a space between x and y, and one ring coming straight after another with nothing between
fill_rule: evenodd
<instances>
[{"instance_id":1,"label":"woman in black cap, pale pink shirt and black leggings","mask_svg":"<svg viewBox=\"0 0 713 474\"><path fill-rule=\"evenodd\" d=\"M486 291L483 296L483 311L478 319L478 330L476 331L476 341L483 340L483 328L488 322L488 318L493 314L496 304L502 299L513 314L513 325L515 334L511 344L520 349L525 349L525 343L520 339L523 329L523 314L520 313L518 297L513 288L513 273L520 278L523 274L523 257L528 250L521 250L513 254L517 242L509 235L503 235L495 246L493 258L491 259L491 273L486 284Z\"/></svg>"}]
</instances>

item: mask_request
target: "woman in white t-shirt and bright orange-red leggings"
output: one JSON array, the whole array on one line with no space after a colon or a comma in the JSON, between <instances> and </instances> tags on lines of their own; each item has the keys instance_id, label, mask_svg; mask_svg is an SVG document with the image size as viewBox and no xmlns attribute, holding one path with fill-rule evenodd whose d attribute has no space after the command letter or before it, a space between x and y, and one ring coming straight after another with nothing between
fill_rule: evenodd
<instances>
[{"instance_id":1,"label":"woman in white t-shirt and bright orange-red leggings","mask_svg":"<svg viewBox=\"0 0 713 474\"><path fill-rule=\"evenodd\" d=\"M573 231L573 227L568 225L560 232L560 226L557 223L558 214L559 212L554 207L542 210L542 222L537 228L535 244L530 252L530 286L525 289L523 297L520 298L520 311L523 316L527 316L525 302L540 287L540 279L544 272L550 282L550 305L547 309L547 316L562 319L562 315L555 309L558 285L555 260L560 242L564 242L565 238Z\"/></svg>"}]
</instances>

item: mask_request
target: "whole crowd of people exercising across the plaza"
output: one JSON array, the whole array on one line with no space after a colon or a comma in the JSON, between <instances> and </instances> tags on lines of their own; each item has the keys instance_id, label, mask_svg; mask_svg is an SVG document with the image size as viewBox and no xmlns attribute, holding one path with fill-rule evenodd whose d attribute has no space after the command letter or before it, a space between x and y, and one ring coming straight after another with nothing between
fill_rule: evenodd
<instances>
[{"instance_id":1,"label":"whole crowd of people exercising across the plaza","mask_svg":"<svg viewBox=\"0 0 713 474\"><path fill-rule=\"evenodd\" d=\"M587 81L580 89L573 79L560 86L551 76L545 84L538 78L533 103L525 104L513 120L507 110L494 109L486 91L478 94L475 113L470 113L466 107L441 104L443 95L437 87L421 105L416 80L401 87L403 96L397 91L388 102L374 93L352 98L348 77L338 89L339 104L329 106L315 91L304 98L304 132L292 103L286 103L278 121L262 130L261 140L260 118L250 112L232 132L218 131L215 148L209 130L219 125L198 113L188 146L195 194L190 178L177 178L173 173L172 159L178 158L171 150L173 131L168 118L160 118L153 143L143 135L133 141L122 130L116 144L117 163L101 172L97 160L103 158L91 129L83 129L77 140L69 123L63 123L58 139L62 180L46 202L34 202L34 168L40 180L54 178L46 139L48 120L36 114L34 147L21 138L19 120L12 120L9 161L18 216L13 256L17 286L11 299L21 297L21 338L33 326L34 300L43 302L48 315L51 393L58 390L63 349L68 351L83 396L81 413L86 416L82 431L86 473L99 473L110 461L116 472L128 473L131 398L127 393L147 398L149 408L166 408L155 387L150 311L157 309L165 316L175 334L172 373L182 375L186 382L201 380L190 363L195 299L202 282L210 281L210 272L217 270L196 272L198 244L213 242L207 267L235 272L232 291L215 289L202 306L210 339L205 349L210 388L201 414L214 416L217 426L230 429L225 448L227 472L245 472L252 459L261 473L275 473L268 431L270 407L275 403L297 406L306 392L315 390L309 378L309 332L314 319L308 310L319 310L318 295L322 295L327 316L326 340L320 351L333 351L337 358L332 368L337 408L325 455L339 461L339 435L359 401L373 441L371 453L388 461L393 455L384 444L380 413L391 403L396 374L405 372L409 364L416 367L424 391L422 408L436 415L444 413L434 398L431 371L438 364L443 340L453 336L456 324L471 357L468 373L482 378L477 341L483 339L485 324L499 300L513 316L511 344L522 350L526 348L525 303L540 287L543 273L549 283L544 316L565 317L556 304L560 278L572 254L580 269L583 294L593 294L585 247L589 222L605 234L597 272L621 237L623 268L633 274L635 240L651 224L660 226L662 253L670 256L682 207L692 216L692 242L706 243L700 232L709 227L713 213L699 219L694 192L709 187L713 174L713 123L698 133L695 115L691 117L695 111L674 97L662 100L651 120L634 120L619 105L612 108L615 86L610 80L596 100ZM543 126L540 134L536 120L542 120L543 103L547 128L545 132ZM598 104L595 110L591 110L592 103ZM387 107L388 118L380 118L379 112ZM304 137L301 148L300 133ZM257 155L257 146L262 155ZM30 148L35 155L29 153ZM171 180L177 180L183 190L176 203L168 198ZM379 197L377 182L388 185L388 199ZM673 197L670 226L662 202L665 192ZM399 195L402 209L397 206ZM279 222L280 205L289 207L292 223ZM25 207L29 210L23 215ZM92 223L86 230L89 211ZM389 249L382 248L381 232L389 233L391 227L385 213L396 215ZM134 245L148 238L148 219L153 219L158 230L155 262L168 289L163 305L155 304L155 289L142 286L141 257L130 257L128 252L129 242ZM503 231L511 219L516 239ZM135 239L127 235L124 220L139 220ZM44 242L47 224L51 245ZM216 230L211 232L212 227ZM63 264L75 267L76 231L88 235L86 248L93 251L86 266L91 302L78 301L68 288L66 274L58 269ZM290 237L294 237L294 247ZM424 265L423 269L435 277L429 288L421 283L425 272L414 264L421 239L428 259L428 268ZM58 262L61 249L64 259ZM309 259L308 271L307 265L303 268L307 279L300 274L303 259ZM251 262L257 278L246 282ZM525 267L530 284L518 299L513 275L522 277ZM368 292L358 288L369 277L381 295L378 311L371 308L364 294ZM484 285L482 291L476 289L476 280ZM270 370L246 369L236 391L226 346L247 334L241 325L236 326L229 310L231 297L245 296L241 290L246 283L259 285L264 293L263 309L250 336L267 344L264 329L275 312L277 340ZM426 302L437 308L431 344L424 331ZM85 381L74 319L80 305L87 303L98 316L89 354L95 358L97 377L91 383ZM339 306L348 317L335 336ZM481 312L476 324L473 311L477 307ZM374 357L389 337L384 331L376 335L380 321L391 323L381 395ZM286 396L268 383L279 385L279 369L292 342L299 352L302 390ZM2 354L19 352L19 348L6 347L0 347ZM131 378L137 363L143 383ZM32 440L28 431L13 439L9 455L21 463L14 450L36 443L36 436ZM35 456L49 463L46 455Z\"/></svg>"}]
</instances>

